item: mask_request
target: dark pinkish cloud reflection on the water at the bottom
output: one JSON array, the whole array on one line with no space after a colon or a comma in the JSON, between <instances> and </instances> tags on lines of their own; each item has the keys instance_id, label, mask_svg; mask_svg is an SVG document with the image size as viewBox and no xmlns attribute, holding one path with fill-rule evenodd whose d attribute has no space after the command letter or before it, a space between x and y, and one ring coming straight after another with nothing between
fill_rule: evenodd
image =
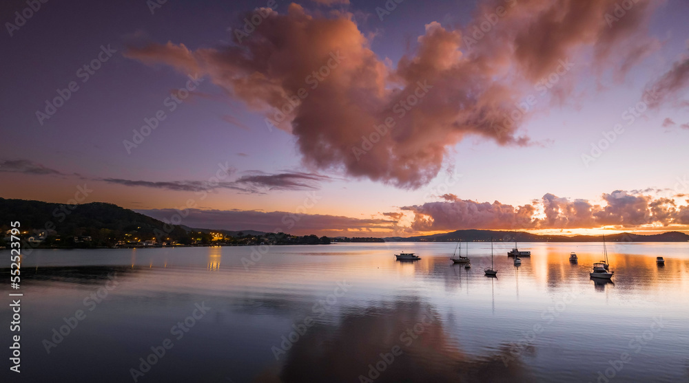
<instances>
[{"instance_id":1,"label":"dark pinkish cloud reflection on the water at the bottom","mask_svg":"<svg viewBox=\"0 0 689 383\"><path fill-rule=\"evenodd\" d=\"M420 300L378 303L339 322L311 327L282 356L280 371L263 371L254 382L535 380L519 358L504 363L508 345L488 355L462 351L433 305Z\"/></svg>"}]
</instances>

